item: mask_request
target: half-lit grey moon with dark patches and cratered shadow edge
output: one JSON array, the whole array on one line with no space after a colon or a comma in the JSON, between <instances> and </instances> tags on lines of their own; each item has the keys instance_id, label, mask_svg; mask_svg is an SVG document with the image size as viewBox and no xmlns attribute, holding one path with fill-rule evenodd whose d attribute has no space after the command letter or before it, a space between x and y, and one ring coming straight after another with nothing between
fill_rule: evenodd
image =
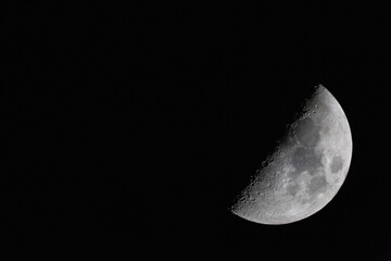
<instances>
[{"instance_id":1,"label":"half-lit grey moon with dark patches and cratered shadow edge","mask_svg":"<svg viewBox=\"0 0 391 261\"><path fill-rule=\"evenodd\" d=\"M341 188L352 150L352 134L341 105L318 85L230 211L270 225L308 217Z\"/></svg>"}]
</instances>

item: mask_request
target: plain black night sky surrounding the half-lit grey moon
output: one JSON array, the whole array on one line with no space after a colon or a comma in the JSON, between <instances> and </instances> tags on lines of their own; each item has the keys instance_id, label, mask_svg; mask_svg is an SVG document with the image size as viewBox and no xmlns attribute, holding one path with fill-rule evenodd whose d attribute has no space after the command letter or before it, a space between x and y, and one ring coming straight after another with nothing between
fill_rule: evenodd
<instances>
[{"instance_id":1,"label":"plain black night sky surrounding the half-lit grey moon","mask_svg":"<svg viewBox=\"0 0 391 261\"><path fill-rule=\"evenodd\" d=\"M3 260L391 260L383 7L2 10ZM317 84L352 129L341 190L290 225L231 214Z\"/></svg>"}]
</instances>

